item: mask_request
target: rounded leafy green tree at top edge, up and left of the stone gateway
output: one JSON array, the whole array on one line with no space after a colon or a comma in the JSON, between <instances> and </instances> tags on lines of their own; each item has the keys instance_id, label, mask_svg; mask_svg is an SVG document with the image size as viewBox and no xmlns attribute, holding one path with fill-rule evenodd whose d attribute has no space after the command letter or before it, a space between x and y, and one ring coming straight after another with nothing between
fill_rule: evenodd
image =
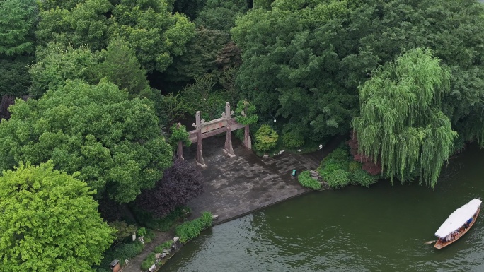
<instances>
[{"instance_id":1,"label":"rounded leafy green tree at top edge, up and left of the stone gateway","mask_svg":"<svg viewBox=\"0 0 484 272\"><path fill-rule=\"evenodd\" d=\"M149 72L165 71L195 36L195 24L183 14L172 14L167 0L120 1L110 20L110 40L126 40Z\"/></svg>"}]
</instances>

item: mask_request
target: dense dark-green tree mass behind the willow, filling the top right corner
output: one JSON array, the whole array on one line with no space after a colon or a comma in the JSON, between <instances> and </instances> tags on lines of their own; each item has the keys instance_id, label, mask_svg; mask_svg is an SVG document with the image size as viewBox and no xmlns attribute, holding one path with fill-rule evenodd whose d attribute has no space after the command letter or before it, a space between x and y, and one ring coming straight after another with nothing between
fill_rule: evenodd
<instances>
[{"instance_id":1,"label":"dense dark-green tree mass behind the willow, filling the top right corner","mask_svg":"<svg viewBox=\"0 0 484 272\"><path fill-rule=\"evenodd\" d=\"M248 11L232 30L243 97L311 140L344 133L356 88L380 64L430 47L450 73L443 112L466 141L483 138L484 5L463 1L288 1ZM281 118L282 117L282 118Z\"/></svg>"}]
</instances>

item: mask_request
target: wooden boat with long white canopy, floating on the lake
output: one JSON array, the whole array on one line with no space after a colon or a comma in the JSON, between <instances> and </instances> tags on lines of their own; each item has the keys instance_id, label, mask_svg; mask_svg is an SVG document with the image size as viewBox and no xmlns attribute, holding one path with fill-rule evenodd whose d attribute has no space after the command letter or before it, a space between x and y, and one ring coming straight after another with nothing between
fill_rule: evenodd
<instances>
[{"instance_id":1,"label":"wooden boat with long white canopy, floating on the lake","mask_svg":"<svg viewBox=\"0 0 484 272\"><path fill-rule=\"evenodd\" d=\"M443 247L456 242L462 235L464 235L476 222L480 211L479 199L473 199L466 205L458 208L454 213L449 215L444 224L435 232L435 236L439 237L434 247L442 249Z\"/></svg>"}]
</instances>

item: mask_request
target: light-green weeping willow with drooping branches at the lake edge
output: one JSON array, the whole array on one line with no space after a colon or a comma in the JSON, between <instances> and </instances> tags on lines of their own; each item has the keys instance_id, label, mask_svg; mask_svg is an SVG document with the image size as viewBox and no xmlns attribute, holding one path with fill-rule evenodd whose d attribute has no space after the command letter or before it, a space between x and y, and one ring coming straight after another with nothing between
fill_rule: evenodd
<instances>
[{"instance_id":1,"label":"light-green weeping willow with drooping branches at the lake edge","mask_svg":"<svg viewBox=\"0 0 484 272\"><path fill-rule=\"evenodd\" d=\"M412 49L379 67L358 88L361 116L352 120L359 153L381 160L393 183L420 170L420 183L433 188L454 151L451 122L441 111L449 91L449 72L430 49Z\"/></svg>"}]
</instances>

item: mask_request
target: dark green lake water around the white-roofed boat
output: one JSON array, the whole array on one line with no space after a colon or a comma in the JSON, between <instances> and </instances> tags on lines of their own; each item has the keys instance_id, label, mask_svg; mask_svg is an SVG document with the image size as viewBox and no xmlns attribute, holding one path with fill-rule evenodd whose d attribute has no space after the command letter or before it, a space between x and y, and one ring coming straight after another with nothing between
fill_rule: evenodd
<instances>
[{"instance_id":1,"label":"dark green lake water around the white-roofed boat","mask_svg":"<svg viewBox=\"0 0 484 272\"><path fill-rule=\"evenodd\" d=\"M217 225L161 271L484 271L484 214L445 249L424 244L484 196L484 150L449 161L435 189L379 182L299 196Z\"/></svg>"}]
</instances>

